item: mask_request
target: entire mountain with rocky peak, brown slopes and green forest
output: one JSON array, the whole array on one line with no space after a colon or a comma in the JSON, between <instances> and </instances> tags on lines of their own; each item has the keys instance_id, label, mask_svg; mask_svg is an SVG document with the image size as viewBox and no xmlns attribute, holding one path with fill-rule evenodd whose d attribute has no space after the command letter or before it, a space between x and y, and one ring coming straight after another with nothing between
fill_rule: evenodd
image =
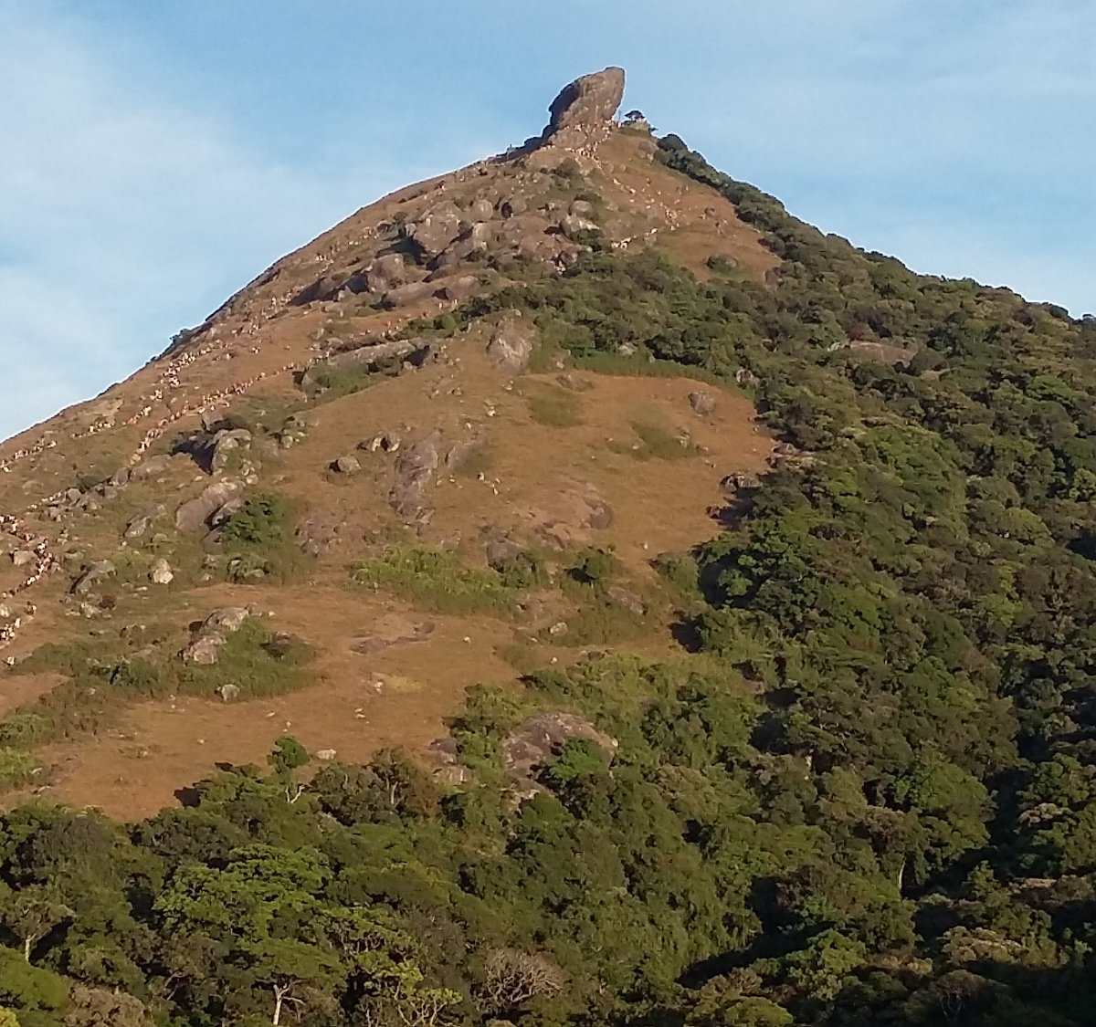
<instances>
[{"instance_id":1,"label":"entire mountain with rocky peak, brown slopes and green forest","mask_svg":"<svg viewBox=\"0 0 1096 1027\"><path fill-rule=\"evenodd\" d=\"M1092 1023L1096 322L624 91L0 447L0 1025Z\"/></svg>"}]
</instances>

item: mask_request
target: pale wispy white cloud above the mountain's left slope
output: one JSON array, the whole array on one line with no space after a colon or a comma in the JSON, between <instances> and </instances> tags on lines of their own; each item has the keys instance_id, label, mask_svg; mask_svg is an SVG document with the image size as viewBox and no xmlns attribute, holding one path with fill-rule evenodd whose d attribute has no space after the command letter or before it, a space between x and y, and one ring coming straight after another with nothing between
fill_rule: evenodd
<instances>
[{"instance_id":1,"label":"pale wispy white cloud above the mountain's left slope","mask_svg":"<svg viewBox=\"0 0 1096 1027\"><path fill-rule=\"evenodd\" d=\"M402 177L248 149L50 7L16 4L0 34L0 437L126 377Z\"/></svg>"}]
</instances>

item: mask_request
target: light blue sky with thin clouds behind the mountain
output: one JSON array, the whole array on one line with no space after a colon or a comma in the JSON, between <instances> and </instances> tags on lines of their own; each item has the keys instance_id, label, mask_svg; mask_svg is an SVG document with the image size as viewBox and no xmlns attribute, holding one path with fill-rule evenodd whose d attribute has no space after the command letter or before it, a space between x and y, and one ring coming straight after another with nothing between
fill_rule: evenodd
<instances>
[{"instance_id":1,"label":"light blue sky with thin clouds behind the mountain","mask_svg":"<svg viewBox=\"0 0 1096 1027\"><path fill-rule=\"evenodd\" d=\"M1094 53L1093 0L0 0L0 436L608 64L823 229L1094 312Z\"/></svg>"}]
</instances>

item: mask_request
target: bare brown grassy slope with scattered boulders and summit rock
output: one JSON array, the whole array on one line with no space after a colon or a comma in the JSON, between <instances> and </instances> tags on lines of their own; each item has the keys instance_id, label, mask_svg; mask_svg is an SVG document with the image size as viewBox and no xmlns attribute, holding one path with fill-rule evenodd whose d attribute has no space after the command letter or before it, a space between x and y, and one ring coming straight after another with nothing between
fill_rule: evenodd
<instances>
[{"instance_id":1,"label":"bare brown grassy slope with scattered boulders and summit rock","mask_svg":"<svg viewBox=\"0 0 1096 1027\"><path fill-rule=\"evenodd\" d=\"M3 708L53 722L35 749L36 791L139 816L217 761L261 758L288 725L312 748L357 760L381 743L424 745L465 688L512 680L500 654L533 644L523 639L563 622L573 602L541 589L516 621L432 620L429 641L397 632L363 655L374 621L416 614L399 597L353 590L352 561L408 523L418 544L459 547L481 566L484 544L503 541L560 566L585 545L612 546L621 576L650 589L653 556L710 533L720 480L764 468L770 443L739 395L701 417L687 380L563 374L566 351L515 316L491 315L452 341L409 328L483 292L556 276L591 244L658 247L700 273L709 256L757 278L775 266L730 203L653 160L642 129L613 127L623 89L613 74L564 91L541 138L359 210L132 378L4 447L12 557L0 613L19 676ZM670 455L687 459L642 459L636 425L661 441L680 437ZM416 451L423 466L409 471ZM340 457L361 471L332 472ZM216 528L244 496L271 494L292 507L286 546L300 558L266 578L261 567L230 568ZM673 518L661 516L666 496L682 499ZM170 582L149 579L156 561ZM115 696L84 725L54 689L66 657L23 662L43 643L89 635L110 648L152 618L156 659L170 663L187 624L248 604L313 650L295 683L305 686L261 708L218 699L212 671L208 684L183 686L176 667L155 690L162 697L130 707L142 696ZM669 613L650 613L642 644L652 653L672 644ZM558 638L545 659L581 649ZM454 642L469 655L455 659ZM385 693L385 676L404 681L396 694ZM178 686L196 694L183 699Z\"/></svg>"}]
</instances>

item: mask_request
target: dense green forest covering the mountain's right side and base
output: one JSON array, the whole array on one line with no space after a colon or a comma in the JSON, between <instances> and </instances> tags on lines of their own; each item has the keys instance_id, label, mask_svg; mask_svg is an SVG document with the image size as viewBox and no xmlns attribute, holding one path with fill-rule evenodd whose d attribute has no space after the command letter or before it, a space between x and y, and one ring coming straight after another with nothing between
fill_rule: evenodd
<instances>
[{"instance_id":1,"label":"dense green forest covering the mountain's right side and base","mask_svg":"<svg viewBox=\"0 0 1096 1027\"><path fill-rule=\"evenodd\" d=\"M692 653L473 690L456 788L396 752L301 787L285 738L133 828L8 813L0 1024L1092 1023L1096 321L660 159L769 282L592 239L418 330L516 307L580 365L751 393L788 459L655 562ZM515 793L502 739L546 709L618 745Z\"/></svg>"}]
</instances>

